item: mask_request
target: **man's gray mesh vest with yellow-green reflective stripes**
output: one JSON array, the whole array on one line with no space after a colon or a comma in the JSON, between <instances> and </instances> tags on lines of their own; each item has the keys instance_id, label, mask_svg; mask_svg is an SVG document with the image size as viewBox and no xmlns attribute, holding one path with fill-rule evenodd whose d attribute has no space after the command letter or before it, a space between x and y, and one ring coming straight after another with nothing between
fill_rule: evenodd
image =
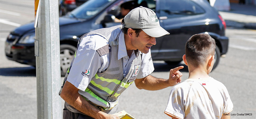
<instances>
[{"instance_id":1,"label":"man's gray mesh vest with yellow-green reflective stripes","mask_svg":"<svg viewBox=\"0 0 256 119\"><path fill-rule=\"evenodd\" d=\"M141 67L141 56L137 50L135 51L136 58L133 60L129 72L124 77L122 58L118 60L118 38L121 33L121 27L122 25L118 25L91 31L84 34L78 42L79 45L84 37L93 34L101 35L109 42L109 47L106 47L110 53L110 63L108 68L105 72L96 73L96 75L91 79L86 90L78 91L78 93L82 95L89 104L108 114L114 114L117 112L119 108L118 99L120 94L134 82ZM100 49L106 50L106 48ZM97 50L97 52L101 51ZM64 80L67 79L69 71L72 69L73 60ZM65 105L67 106L67 109L72 112L82 113L67 102L65 102Z\"/></svg>"}]
</instances>

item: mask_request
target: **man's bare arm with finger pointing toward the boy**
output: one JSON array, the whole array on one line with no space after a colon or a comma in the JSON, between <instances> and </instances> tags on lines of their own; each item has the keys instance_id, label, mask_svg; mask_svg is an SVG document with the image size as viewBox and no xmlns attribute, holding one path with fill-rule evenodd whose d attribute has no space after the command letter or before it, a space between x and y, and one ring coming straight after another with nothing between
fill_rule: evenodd
<instances>
[{"instance_id":1,"label":"man's bare arm with finger pointing toward the boy","mask_svg":"<svg viewBox=\"0 0 256 119\"><path fill-rule=\"evenodd\" d=\"M145 90L160 90L169 86L174 86L181 82L182 73L179 69L184 66L179 66L170 70L169 79L156 78L152 75L148 75L141 79L135 79L135 85L138 89Z\"/></svg>"}]
</instances>

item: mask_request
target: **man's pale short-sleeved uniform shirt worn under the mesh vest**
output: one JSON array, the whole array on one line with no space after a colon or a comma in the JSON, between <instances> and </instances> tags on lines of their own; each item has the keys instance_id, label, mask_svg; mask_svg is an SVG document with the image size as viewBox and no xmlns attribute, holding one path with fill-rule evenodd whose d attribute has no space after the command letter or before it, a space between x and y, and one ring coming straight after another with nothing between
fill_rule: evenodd
<instances>
[{"instance_id":1,"label":"man's pale short-sleeved uniform shirt worn under the mesh vest","mask_svg":"<svg viewBox=\"0 0 256 119\"><path fill-rule=\"evenodd\" d=\"M109 65L110 54L100 56L97 50L108 44L107 40L99 35L89 35L83 38L77 48L76 57L74 59L72 70L70 70L67 81L80 90L85 90L90 83L92 77L99 72L104 72ZM140 52L141 53L141 52ZM118 60L123 60L124 75L129 72L132 61L136 55L134 51L131 57L127 56L124 33L120 33ZM141 69L137 78L144 78L154 71L154 65L151 58L151 52L142 53ZM84 77L81 73L87 72L89 77Z\"/></svg>"}]
</instances>

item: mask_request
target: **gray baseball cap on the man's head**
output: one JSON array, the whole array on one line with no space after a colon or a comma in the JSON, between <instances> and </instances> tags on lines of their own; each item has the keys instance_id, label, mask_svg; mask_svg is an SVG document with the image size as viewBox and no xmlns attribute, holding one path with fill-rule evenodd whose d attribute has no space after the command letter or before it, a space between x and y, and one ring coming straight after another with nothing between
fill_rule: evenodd
<instances>
[{"instance_id":1,"label":"gray baseball cap on the man's head","mask_svg":"<svg viewBox=\"0 0 256 119\"><path fill-rule=\"evenodd\" d=\"M170 33L164 30L154 11L146 7L132 9L125 17L123 27L142 29L151 37L161 37Z\"/></svg>"}]
</instances>

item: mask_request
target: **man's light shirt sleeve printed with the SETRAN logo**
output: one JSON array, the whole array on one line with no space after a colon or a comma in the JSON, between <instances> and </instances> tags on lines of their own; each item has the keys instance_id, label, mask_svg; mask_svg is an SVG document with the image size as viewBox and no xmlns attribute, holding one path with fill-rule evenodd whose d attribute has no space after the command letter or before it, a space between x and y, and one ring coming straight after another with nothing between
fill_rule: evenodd
<instances>
[{"instance_id":1,"label":"man's light shirt sleeve printed with the SETRAN logo","mask_svg":"<svg viewBox=\"0 0 256 119\"><path fill-rule=\"evenodd\" d=\"M94 38L95 37L98 36L94 36ZM91 38L93 38L93 36L84 37L83 43L81 42L78 46L74 62L67 78L68 82L83 91L86 90L98 70L102 69L104 62L98 52L90 47L94 44L94 42L90 40Z\"/></svg>"}]
</instances>

